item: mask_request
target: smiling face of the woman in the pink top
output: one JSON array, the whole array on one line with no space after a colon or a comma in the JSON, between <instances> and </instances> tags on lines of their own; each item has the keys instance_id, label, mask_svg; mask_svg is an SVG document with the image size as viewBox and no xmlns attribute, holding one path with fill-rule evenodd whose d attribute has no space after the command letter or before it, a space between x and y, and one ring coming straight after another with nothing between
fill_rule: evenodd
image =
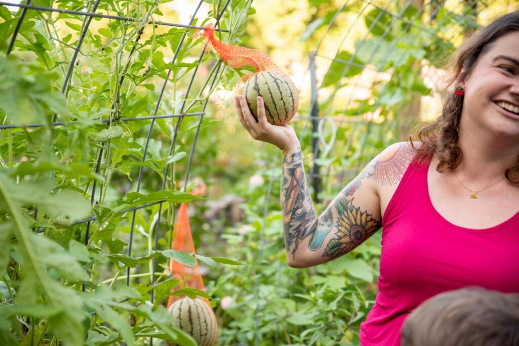
<instances>
[{"instance_id":1,"label":"smiling face of the woman in the pink top","mask_svg":"<svg viewBox=\"0 0 519 346\"><path fill-rule=\"evenodd\" d=\"M462 124L469 131L477 126L499 138L519 138L519 32L494 41L463 84Z\"/></svg>"}]
</instances>

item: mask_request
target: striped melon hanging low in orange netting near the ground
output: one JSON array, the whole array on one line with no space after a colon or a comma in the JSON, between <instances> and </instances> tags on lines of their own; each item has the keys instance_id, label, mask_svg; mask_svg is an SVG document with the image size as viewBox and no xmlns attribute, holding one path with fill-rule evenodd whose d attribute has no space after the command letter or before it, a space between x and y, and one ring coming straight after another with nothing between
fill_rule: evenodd
<instances>
[{"instance_id":1,"label":"striped melon hanging low in orange netting near the ground","mask_svg":"<svg viewBox=\"0 0 519 346\"><path fill-rule=\"evenodd\" d=\"M218 325L216 316L206 301L188 297L175 301L169 312L175 321L174 326L191 335L199 346L212 346L216 342ZM170 346L176 344L168 343Z\"/></svg>"}]
</instances>

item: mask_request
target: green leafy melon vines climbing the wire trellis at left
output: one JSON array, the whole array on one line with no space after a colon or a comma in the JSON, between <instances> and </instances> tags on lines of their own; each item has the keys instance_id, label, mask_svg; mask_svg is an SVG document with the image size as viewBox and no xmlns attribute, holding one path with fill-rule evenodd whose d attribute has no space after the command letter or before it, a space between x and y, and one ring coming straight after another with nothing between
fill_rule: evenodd
<instances>
[{"instance_id":1,"label":"green leafy melon vines climbing the wire trellis at left","mask_svg":"<svg viewBox=\"0 0 519 346\"><path fill-rule=\"evenodd\" d=\"M0 343L134 345L155 338L194 345L163 304L171 294L209 297L187 287L170 293L183 283L169 279L168 259L190 266L196 259L155 251L152 240L160 234L168 249L175 205L202 199L176 181L186 174L199 119L138 118L203 112L214 85L227 88L235 74L200 55L195 30L154 25L161 2L32 4L133 20L29 10L12 54L0 57L0 119L18 125L0 137ZM224 10L221 2L212 5L208 18L192 24ZM251 11L250 2L233 1L222 27L241 35ZM0 7L2 55L21 12ZM206 80L189 83L199 69ZM173 90L161 100L164 80Z\"/></svg>"}]
</instances>

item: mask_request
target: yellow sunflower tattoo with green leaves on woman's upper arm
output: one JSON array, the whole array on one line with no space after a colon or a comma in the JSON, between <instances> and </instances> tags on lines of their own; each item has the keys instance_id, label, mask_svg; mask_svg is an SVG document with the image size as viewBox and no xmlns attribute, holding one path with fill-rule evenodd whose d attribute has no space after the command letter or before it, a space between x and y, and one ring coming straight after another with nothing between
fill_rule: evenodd
<instances>
[{"instance_id":1,"label":"yellow sunflower tattoo with green leaves on woman's upper arm","mask_svg":"<svg viewBox=\"0 0 519 346\"><path fill-rule=\"evenodd\" d=\"M371 214L353 206L353 199L339 201L337 214L336 237L327 244L324 256L336 258L348 253L380 228L380 222Z\"/></svg>"}]
</instances>

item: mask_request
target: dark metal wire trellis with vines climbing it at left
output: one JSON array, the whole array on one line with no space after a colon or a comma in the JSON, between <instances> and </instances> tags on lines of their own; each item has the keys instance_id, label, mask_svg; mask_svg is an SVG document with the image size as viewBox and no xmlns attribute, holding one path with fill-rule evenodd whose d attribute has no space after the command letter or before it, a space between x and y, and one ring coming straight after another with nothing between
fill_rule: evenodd
<instances>
[{"instance_id":1,"label":"dark metal wire trellis with vines climbing it at left","mask_svg":"<svg viewBox=\"0 0 519 346\"><path fill-rule=\"evenodd\" d=\"M97 18L97 19L127 22L127 23L136 23L138 25L138 34L136 35L135 40L133 41L133 44L131 45L131 49L129 50L130 53L127 56L125 68L124 68L120 78L117 80L117 89L116 90L121 90L121 88L125 82L125 77L128 73L129 66L132 64L132 59L134 57L134 52L136 50L136 46L139 44L139 41L141 40L141 37L143 35L144 26L153 25L155 27L165 26L165 27L174 27L174 28L179 28L179 29L185 29L185 31L183 32L176 47L172 46L172 48L174 49L174 54L173 54L171 61L169 62L169 66L172 66L172 67L168 68L165 78L163 78L163 82L162 82L160 92L158 94L158 98L155 100L155 103L154 103L153 114L151 116L121 117L119 119L115 119L115 116L116 116L115 112L117 110L117 102L118 102L118 96L117 96L116 100L114 102L112 102L111 111L109 112L109 114L106 114L107 119L94 119L93 123L94 124L95 123L105 124L105 125L108 125L108 127L110 127L112 124L116 124L116 123L149 122L149 124L147 125L147 127L148 127L147 136L143 143L142 158L140 160L140 162L146 163L147 158L148 158L148 149L151 146L152 140L154 140L152 134L154 133L155 124L156 124L157 120L168 120L169 119L171 121L174 121L174 129L172 131L173 135L170 140L169 151L168 151L168 156L167 156L167 157L170 157L175 154L175 149L177 147L177 141L178 141L178 134L181 131L182 121L184 119L197 119L197 128L196 128L196 132L193 137L193 141L192 141L192 143L190 143L188 162L185 167L184 185L181 189L183 192L186 192L188 180L189 180L189 174L190 174L190 170L192 168L193 155L194 155L194 151L195 151L196 141L199 136L200 126L202 124L204 115L206 114L206 108L207 108L207 105L209 102L209 95L207 97L205 97L204 99L202 98L202 101L200 102L199 105L197 105L195 102L193 102L191 104L187 104L187 102L185 100L188 100L190 94L193 94L195 81L197 79L198 80L203 79L203 77L199 76L198 70L199 70L199 67L201 66L203 57L206 54L206 51L204 49L201 49L201 53L197 59L197 66L194 67L194 69L191 73L191 77L188 80L187 85L185 85L185 90L182 91L182 93L183 93L182 100L184 100L184 102L182 102L182 106L180 107L180 109L178 109L178 111L173 114L160 114L160 112L163 112L162 108L165 108L165 107L161 107L162 106L161 102L162 102L163 96L166 94L167 89L171 84L171 82L170 82L171 75L173 73L176 73L173 71L173 67L175 66L175 63L177 63L177 58L179 57L182 49L185 49L185 45L186 45L185 40L189 34L188 30L204 30L203 26L195 25L195 22L197 22L200 18L202 18L200 16L199 12L200 12L200 9L201 9L203 3L204 3L203 0L200 0L198 2L198 5L196 6L196 9L190 16L189 23L182 24L182 23L154 21L154 20L144 20L143 21L138 18L125 17L125 16L120 16L120 15L115 16L115 15L100 13L98 10L99 6L100 6L100 0L97 0L91 7L85 6L85 10L71 10L71 9L64 9L64 8L36 6L36 5L31 4L31 0L26 0L26 2L24 4L12 4L12 3L0 2L0 6L10 6L11 8L18 7L21 9L17 15L17 24L15 27L15 30L12 33L12 36L10 39L10 44L6 51L6 55L19 53L19 51L16 50L16 47L17 47L16 42L19 39L23 39L23 37L20 37L19 33L21 31L21 28L23 27L22 25L24 23L24 19L26 18L26 14L28 13L28 11L37 11L40 16L41 16L41 13L60 13L60 14L71 15L71 16L79 16L79 18L83 18L84 24L81 26L81 30L79 32L79 38L77 40L77 44L75 45L75 47L72 51L72 57L68 63L68 67L66 69L66 75L64 76L64 81L63 81L62 87L61 87L61 93L66 95L67 91L70 90L71 81L74 77L75 67L77 65L78 55L81 54L81 50L84 48L85 38L87 38L89 40L91 39L91 37L89 37L89 35L91 35L90 25L91 25L92 19ZM222 17L224 16L224 13L227 11L230 0L226 0L225 2L222 2L222 3L223 3L223 5L221 7L218 7L218 12L215 13L215 15L214 15L213 25L217 28L217 30L219 32L228 33L229 30L220 27L220 21L221 21ZM67 18L69 18L69 17L67 17ZM211 92L213 90L215 83L217 82L217 78L221 74L222 67L223 67L223 65L221 62L217 62L216 64L214 64L214 66L212 66L213 73L209 76L210 80L208 80L206 82L206 84L203 85L202 88L206 88L208 86L209 92ZM176 89L175 86L174 86L174 89ZM199 95L202 95L203 92L206 92L206 91L201 89L197 92L199 93ZM192 109L196 108L195 106L198 106L198 108L200 110L193 111ZM59 115L60 114L58 114L58 113L54 113L50 124L42 124L42 123L40 123L40 124L37 124L37 123L13 124L13 123L9 123L7 118L4 118L3 123L0 124L0 131L10 131L11 129L28 131L28 129L37 129L37 128L41 128L41 127L50 126L51 137L52 137L52 132L53 132L54 128L57 128L57 127L60 127L60 128L72 127L73 128L74 125L79 124L81 122L81 120L57 121ZM52 143L50 145L52 146ZM110 143L108 143L108 146L110 146ZM95 157L93 158L93 162L95 163L95 165L93 166L93 171L97 175L100 174L102 162L103 162L103 159L106 158L106 155L108 155L107 154L108 150L109 150L109 148L106 146L106 142L103 141L100 144L100 146L98 147L97 153L95 154ZM163 173L162 173L163 178L162 178L161 187L160 187L161 190L166 190L169 169L170 169L170 165L166 165L165 171L163 171ZM142 187L142 182L144 179L145 179L144 165L140 165L138 179L136 181L136 192L140 192L141 187ZM88 186L87 186L87 189L88 189ZM97 204L101 204L101 202L102 201L101 201L101 194L99 193L98 181L97 181L97 179L93 179L92 186L90 189L90 205L94 206ZM162 205L164 202L165 201L162 200L162 201L157 201L154 203L145 203L145 204L142 204L139 206L122 209L118 212L120 215L125 215L126 213L131 213L131 215L132 215L131 225L130 225L130 230L129 230L129 241L127 244L128 257L134 256L134 254L132 252L132 246L134 243L134 234L135 234L135 230L136 230L136 224L135 224L136 212L139 210L145 209L145 208L158 206L158 214L157 214L157 219L155 221L155 229L154 229L155 239L154 239L153 250L157 251L159 249L158 239L159 239L159 234L162 233L159 226L161 224ZM38 216L38 210L35 208L34 209L34 218L36 219L37 216ZM78 226L85 225L86 226L86 233L85 233L84 240L85 240L85 245L88 246L89 241L90 241L90 236L91 236L91 234L90 234L91 226L94 222L97 222L97 221L101 222L101 220L99 220L97 215L93 215L89 218L72 222L69 226L74 226L74 225L78 225ZM100 223L97 225L98 228L101 226L102 225ZM34 228L33 230L37 231L39 233L43 233L46 231L46 229L47 228ZM152 287L151 287L151 291L149 291L149 297L150 297L150 301L153 303L154 298L155 298L154 297L155 287L158 284L165 282L165 280L162 280L159 283L155 282L156 258L153 259L153 270L152 270L150 277L151 277L151 282L152 282L151 286ZM130 273L130 267L128 266L127 271L126 271L126 285L130 284L130 278L131 278L131 273ZM170 280L170 279L166 279L166 281ZM83 284L83 291L87 290L86 287L87 286L85 284ZM122 299L119 302L123 302L126 300L128 300L128 298ZM94 313L95 312L93 312L92 314L94 314ZM153 340L151 340L150 343L152 344Z\"/></svg>"}]
</instances>

